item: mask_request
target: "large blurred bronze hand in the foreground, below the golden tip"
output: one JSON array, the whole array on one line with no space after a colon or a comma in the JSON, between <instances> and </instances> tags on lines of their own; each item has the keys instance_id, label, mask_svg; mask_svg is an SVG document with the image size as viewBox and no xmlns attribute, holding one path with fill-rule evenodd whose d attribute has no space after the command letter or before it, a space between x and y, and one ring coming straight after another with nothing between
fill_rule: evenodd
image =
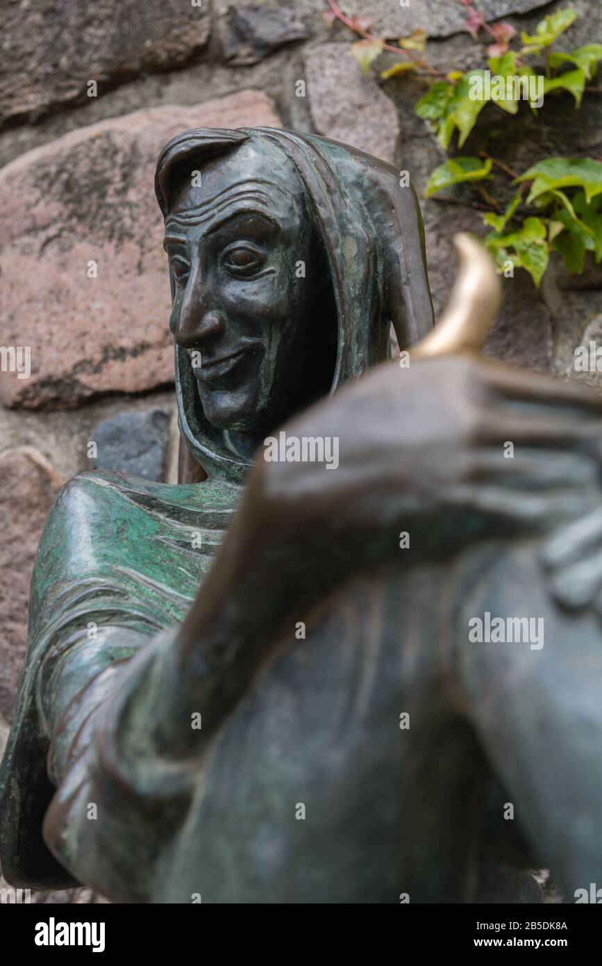
<instances>
[{"instance_id":1,"label":"large blurred bronze hand in the foreground, below the golden tip","mask_svg":"<svg viewBox=\"0 0 602 966\"><path fill-rule=\"evenodd\" d=\"M547 529L600 503L602 401L482 356L370 371L284 427L339 440L339 466L263 462L270 514L303 541L420 527L430 544ZM276 434L277 435L277 434ZM261 461L259 461L261 462Z\"/></svg>"}]
</instances>

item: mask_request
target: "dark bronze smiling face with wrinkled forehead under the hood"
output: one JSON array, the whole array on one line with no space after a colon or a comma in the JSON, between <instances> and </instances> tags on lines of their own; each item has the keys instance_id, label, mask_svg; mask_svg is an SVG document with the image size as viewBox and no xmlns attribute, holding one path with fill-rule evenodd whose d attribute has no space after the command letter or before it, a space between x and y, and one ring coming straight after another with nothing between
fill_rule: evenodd
<instances>
[{"instance_id":1,"label":"dark bronze smiling face with wrinkled forehead under the hood","mask_svg":"<svg viewBox=\"0 0 602 966\"><path fill-rule=\"evenodd\" d=\"M191 165L166 220L172 327L220 429L267 432L328 389L315 386L323 255L287 164L244 144L200 177Z\"/></svg>"}]
</instances>

